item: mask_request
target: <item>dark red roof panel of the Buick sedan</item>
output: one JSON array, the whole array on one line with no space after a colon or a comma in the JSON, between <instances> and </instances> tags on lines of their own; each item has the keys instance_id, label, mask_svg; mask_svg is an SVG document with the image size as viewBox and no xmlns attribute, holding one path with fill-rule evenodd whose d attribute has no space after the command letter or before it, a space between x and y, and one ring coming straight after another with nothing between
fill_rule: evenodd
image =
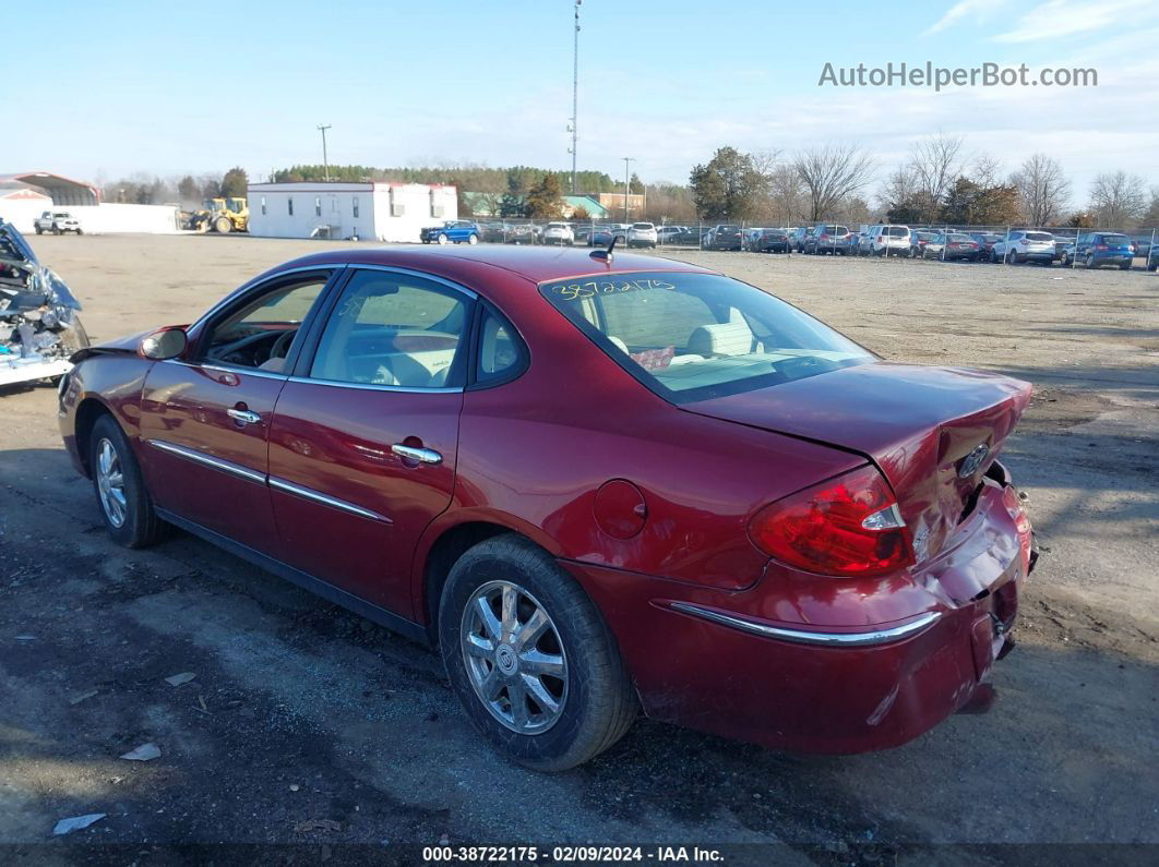
<instances>
[{"instance_id":1,"label":"dark red roof panel of the Buick sedan","mask_svg":"<svg viewBox=\"0 0 1159 867\"><path fill-rule=\"evenodd\" d=\"M626 271L685 271L692 273L715 273L709 269L659 256L639 256L615 251L611 264L591 257L588 250L568 248L541 248L517 245L472 247L353 247L312 254L279 265L276 271L309 267L312 265L387 265L393 267L427 271L432 274L459 280L472 270L482 275L490 269L502 269L532 282L559 280L585 274L617 273Z\"/></svg>"}]
</instances>

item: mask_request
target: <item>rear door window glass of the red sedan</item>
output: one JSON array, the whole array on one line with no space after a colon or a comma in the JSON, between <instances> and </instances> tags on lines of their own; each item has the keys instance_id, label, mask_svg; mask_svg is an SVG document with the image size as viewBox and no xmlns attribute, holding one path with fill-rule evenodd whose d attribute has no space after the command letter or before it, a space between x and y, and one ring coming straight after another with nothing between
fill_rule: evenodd
<instances>
[{"instance_id":1,"label":"rear door window glass of the red sedan","mask_svg":"<svg viewBox=\"0 0 1159 867\"><path fill-rule=\"evenodd\" d=\"M309 375L411 389L462 384L468 300L433 280L358 271L338 299Z\"/></svg>"}]
</instances>

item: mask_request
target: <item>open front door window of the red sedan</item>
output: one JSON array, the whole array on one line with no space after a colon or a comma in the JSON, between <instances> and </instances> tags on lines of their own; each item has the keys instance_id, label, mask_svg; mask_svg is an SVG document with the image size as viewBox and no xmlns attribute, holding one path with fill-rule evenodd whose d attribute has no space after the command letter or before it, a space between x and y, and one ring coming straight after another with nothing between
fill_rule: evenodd
<instances>
[{"instance_id":1,"label":"open front door window of the red sedan","mask_svg":"<svg viewBox=\"0 0 1159 867\"><path fill-rule=\"evenodd\" d=\"M322 275L283 284L216 323L205 338L204 360L282 373L326 281Z\"/></svg>"}]
</instances>

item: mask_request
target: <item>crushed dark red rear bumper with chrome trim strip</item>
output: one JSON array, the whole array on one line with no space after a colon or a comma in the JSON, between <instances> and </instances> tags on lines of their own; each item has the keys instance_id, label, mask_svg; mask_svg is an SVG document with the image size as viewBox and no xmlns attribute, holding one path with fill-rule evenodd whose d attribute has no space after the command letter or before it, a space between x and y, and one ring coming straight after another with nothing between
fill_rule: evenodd
<instances>
[{"instance_id":1,"label":"crushed dark red rear bumper with chrome trim strip","mask_svg":"<svg viewBox=\"0 0 1159 867\"><path fill-rule=\"evenodd\" d=\"M888 749L987 705L985 678L1012 646L1034 563L1029 524L1020 508L1011 514L1007 491L987 487L967 543L872 585L766 578L729 594L562 565L614 612L608 623L649 717L802 752ZM875 603L910 613L867 624ZM809 610L832 619L788 620Z\"/></svg>"}]
</instances>

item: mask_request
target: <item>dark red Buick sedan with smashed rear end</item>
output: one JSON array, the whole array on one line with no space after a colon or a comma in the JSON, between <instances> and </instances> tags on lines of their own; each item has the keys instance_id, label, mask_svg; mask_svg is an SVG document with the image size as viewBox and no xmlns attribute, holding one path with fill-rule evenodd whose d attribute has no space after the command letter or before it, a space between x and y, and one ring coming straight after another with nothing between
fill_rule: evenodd
<instances>
[{"instance_id":1,"label":"dark red Buick sedan with smashed rear end","mask_svg":"<svg viewBox=\"0 0 1159 867\"><path fill-rule=\"evenodd\" d=\"M600 252L286 263L79 353L65 443L118 543L178 527L436 646L532 767L641 708L852 752L985 704L1034 564L996 460L1029 385Z\"/></svg>"}]
</instances>

